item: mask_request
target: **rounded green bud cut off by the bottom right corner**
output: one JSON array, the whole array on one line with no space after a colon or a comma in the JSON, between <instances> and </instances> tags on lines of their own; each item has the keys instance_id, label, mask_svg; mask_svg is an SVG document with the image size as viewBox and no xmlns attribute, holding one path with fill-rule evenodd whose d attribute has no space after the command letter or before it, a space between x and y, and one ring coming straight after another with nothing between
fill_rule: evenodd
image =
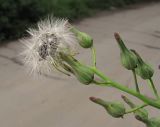
<instances>
[{"instance_id":1,"label":"rounded green bud cut off by the bottom right corner","mask_svg":"<svg viewBox=\"0 0 160 127\"><path fill-rule=\"evenodd\" d=\"M160 118L154 117L150 118L148 122L146 123L147 127L160 127Z\"/></svg>"}]
</instances>

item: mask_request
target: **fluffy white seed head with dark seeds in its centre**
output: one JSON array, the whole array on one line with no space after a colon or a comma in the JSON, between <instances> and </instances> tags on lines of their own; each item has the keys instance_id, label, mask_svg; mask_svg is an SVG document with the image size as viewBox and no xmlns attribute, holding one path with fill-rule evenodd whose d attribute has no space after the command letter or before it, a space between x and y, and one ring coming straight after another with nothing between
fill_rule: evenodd
<instances>
[{"instance_id":1,"label":"fluffy white seed head with dark seeds in its centre","mask_svg":"<svg viewBox=\"0 0 160 127\"><path fill-rule=\"evenodd\" d=\"M50 72L53 66L61 67L60 52L74 55L77 40L65 19L48 17L37 26L27 31L31 35L29 39L22 40L25 46L22 54L30 71L41 74Z\"/></svg>"}]
</instances>

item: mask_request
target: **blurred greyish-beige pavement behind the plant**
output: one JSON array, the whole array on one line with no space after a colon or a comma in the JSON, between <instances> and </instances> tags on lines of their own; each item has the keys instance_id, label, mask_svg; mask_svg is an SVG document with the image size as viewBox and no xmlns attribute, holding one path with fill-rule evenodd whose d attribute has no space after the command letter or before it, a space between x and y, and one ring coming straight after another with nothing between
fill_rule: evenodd
<instances>
[{"instance_id":1,"label":"blurred greyish-beige pavement behind the plant","mask_svg":"<svg viewBox=\"0 0 160 127\"><path fill-rule=\"evenodd\" d=\"M120 32L127 46L153 65L154 80L160 91L160 3L103 12L76 26L94 38L98 68L112 79L134 87L131 72L120 65L119 49L113 37L114 32ZM111 118L103 108L88 100L90 96L120 100L124 93L113 88L81 85L74 77L56 72L34 78L17 58L20 50L19 42L0 48L0 127L144 127L132 115ZM89 51L81 49L78 57L90 63ZM139 81L141 91L152 96L146 81ZM160 116L158 110L148 109L151 116Z\"/></svg>"}]
</instances>

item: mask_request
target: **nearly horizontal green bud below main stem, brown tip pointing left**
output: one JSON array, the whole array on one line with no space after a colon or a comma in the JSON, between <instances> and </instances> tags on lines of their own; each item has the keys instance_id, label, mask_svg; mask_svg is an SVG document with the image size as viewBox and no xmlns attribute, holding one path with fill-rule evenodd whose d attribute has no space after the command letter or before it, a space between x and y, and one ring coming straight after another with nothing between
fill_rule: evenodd
<instances>
[{"instance_id":1,"label":"nearly horizontal green bud below main stem, brown tip pointing left","mask_svg":"<svg viewBox=\"0 0 160 127\"><path fill-rule=\"evenodd\" d=\"M108 114L110 114L112 117L120 118L125 114L125 107L122 103L107 102L95 97L90 97L90 100L103 106Z\"/></svg>"}]
</instances>

